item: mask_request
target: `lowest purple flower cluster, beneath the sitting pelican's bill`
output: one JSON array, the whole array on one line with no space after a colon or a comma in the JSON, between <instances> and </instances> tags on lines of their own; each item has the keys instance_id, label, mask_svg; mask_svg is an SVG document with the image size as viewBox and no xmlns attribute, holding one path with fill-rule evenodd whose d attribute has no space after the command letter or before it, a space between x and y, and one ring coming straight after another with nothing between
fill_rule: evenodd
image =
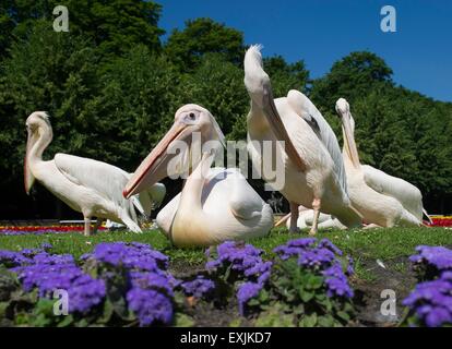
<instances>
[{"instance_id":1,"label":"lowest purple flower cluster, beneath the sitting pelican's bill","mask_svg":"<svg viewBox=\"0 0 452 349\"><path fill-rule=\"evenodd\" d=\"M136 314L140 326L169 325L173 321L171 301L155 290L132 288L127 293L127 301L129 309Z\"/></svg>"}]
</instances>

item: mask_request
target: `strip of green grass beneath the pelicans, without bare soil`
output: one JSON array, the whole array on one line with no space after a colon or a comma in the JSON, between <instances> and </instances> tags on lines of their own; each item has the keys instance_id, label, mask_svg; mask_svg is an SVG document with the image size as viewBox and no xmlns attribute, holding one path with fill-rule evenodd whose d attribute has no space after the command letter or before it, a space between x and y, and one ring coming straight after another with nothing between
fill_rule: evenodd
<instances>
[{"instance_id":1,"label":"strip of green grass beneath the pelicans, without bare soil","mask_svg":"<svg viewBox=\"0 0 452 349\"><path fill-rule=\"evenodd\" d=\"M287 229L273 229L266 238L250 241L269 254L272 250L290 239L307 237L306 233L289 234ZM443 228L391 228L371 230L345 230L319 232L319 238L329 238L346 254L355 260L358 278L371 281L374 279L371 268L365 267L366 261L380 260L392 265L394 270L403 272L408 267L406 257L415 252L419 244L452 246L452 230ZM171 246L168 239L158 230L148 230L141 234L131 232L100 232L93 237L80 233L45 234L45 236L0 236L0 250L21 250L38 248L44 242L53 245L55 253L70 253L79 257L91 252L104 241L138 241L151 244L167 254L173 262L198 265L205 262L204 249L178 249Z\"/></svg>"}]
</instances>

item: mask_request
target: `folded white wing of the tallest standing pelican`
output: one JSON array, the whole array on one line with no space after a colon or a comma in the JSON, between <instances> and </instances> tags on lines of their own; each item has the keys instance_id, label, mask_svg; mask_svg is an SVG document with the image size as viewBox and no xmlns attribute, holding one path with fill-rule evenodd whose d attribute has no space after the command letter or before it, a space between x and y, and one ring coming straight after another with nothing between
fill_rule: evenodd
<instances>
[{"instance_id":1,"label":"folded white wing of the tallest standing pelican","mask_svg":"<svg viewBox=\"0 0 452 349\"><path fill-rule=\"evenodd\" d=\"M290 89L287 94L287 101L292 109L308 123L330 153L342 190L347 193L347 180L341 147L330 124L312 101L299 91Z\"/></svg>"}]
</instances>

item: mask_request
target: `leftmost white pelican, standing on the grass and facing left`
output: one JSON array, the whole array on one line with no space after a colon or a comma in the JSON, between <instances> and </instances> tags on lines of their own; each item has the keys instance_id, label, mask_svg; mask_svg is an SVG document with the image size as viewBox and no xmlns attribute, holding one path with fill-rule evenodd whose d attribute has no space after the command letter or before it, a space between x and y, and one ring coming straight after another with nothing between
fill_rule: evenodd
<instances>
[{"instance_id":1,"label":"leftmost white pelican, standing on the grass and facing left","mask_svg":"<svg viewBox=\"0 0 452 349\"><path fill-rule=\"evenodd\" d=\"M153 204L163 200L165 186L158 183L139 197L126 200L122 188L131 177L118 167L68 154L57 154L49 161L43 153L52 140L52 129L45 111L35 111L26 119L28 140L24 164L25 191L37 180L55 196L84 217L84 233L91 233L91 219L123 222L130 230L141 232L134 206L148 216Z\"/></svg>"}]
</instances>

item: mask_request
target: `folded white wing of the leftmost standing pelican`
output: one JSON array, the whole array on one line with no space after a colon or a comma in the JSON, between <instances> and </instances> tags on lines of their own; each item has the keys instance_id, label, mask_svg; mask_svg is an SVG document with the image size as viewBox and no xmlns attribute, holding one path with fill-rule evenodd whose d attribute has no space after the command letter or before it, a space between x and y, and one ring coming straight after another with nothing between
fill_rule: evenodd
<instances>
[{"instance_id":1,"label":"folded white wing of the leftmost standing pelican","mask_svg":"<svg viewBox=\"0 0 452 349\"><path fill-rule=\"evenodd\" d=\"M122 190L129 180L128 172L106 163L61 153L55 156L55 165L73 183L90 188L123 207Z\"/></svg>"}]
</instances>

